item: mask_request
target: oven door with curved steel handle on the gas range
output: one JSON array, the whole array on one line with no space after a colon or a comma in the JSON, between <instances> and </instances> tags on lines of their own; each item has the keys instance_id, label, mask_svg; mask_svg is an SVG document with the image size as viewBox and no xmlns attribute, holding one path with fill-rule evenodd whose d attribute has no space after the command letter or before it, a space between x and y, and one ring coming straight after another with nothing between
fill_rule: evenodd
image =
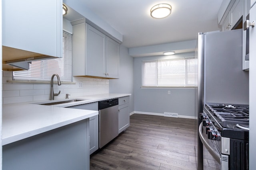
<instances>
[{"instance_id":1,"label":"oven door with curved steel handle on the gas range","mask_svg":"<svg viewBox=\"0 0 256 170\"><path fill-rule=\"evenodd\" d=\"M203 126L203 123L200 124L198 133L204 147L218 162L220 170L228 170L228 155L221 154L217 148L215 141L208 139L206 135L206 128Z\"/></svg>"}]
</instances>

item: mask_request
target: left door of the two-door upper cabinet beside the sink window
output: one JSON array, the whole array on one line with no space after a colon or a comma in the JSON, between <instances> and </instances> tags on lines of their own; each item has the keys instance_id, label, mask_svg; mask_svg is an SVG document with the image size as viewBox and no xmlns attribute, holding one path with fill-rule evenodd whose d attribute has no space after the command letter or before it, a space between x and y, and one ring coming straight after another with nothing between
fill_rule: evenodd
<instances>
[{"instance_id":1,"label":"left door of the two-door upper cabinet beside the sink window","mask_svg":"<svg viewBox=\"0 0 256 170\"><path fill-rule=\"evenodd\" d=\"M86 75L106 76L106 35L86 23Z\"/></svg>"}]
</instances>

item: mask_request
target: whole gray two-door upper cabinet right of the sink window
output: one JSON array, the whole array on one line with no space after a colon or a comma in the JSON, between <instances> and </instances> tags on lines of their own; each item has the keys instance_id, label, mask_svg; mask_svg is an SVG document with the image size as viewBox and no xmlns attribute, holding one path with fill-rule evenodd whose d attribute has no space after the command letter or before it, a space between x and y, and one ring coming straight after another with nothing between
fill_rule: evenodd
<instances>
[{"instance_id":1,"label":"whole gray two-door upper cabinet right of the sink window","mask_svg":"<svg viewBox=\"0 0 256 170\"><path fill-rule=\"evenodd\" d=\"M86 23L73 25L73 76L118 78L119 44Z\"/></svg>"}]
</instances>

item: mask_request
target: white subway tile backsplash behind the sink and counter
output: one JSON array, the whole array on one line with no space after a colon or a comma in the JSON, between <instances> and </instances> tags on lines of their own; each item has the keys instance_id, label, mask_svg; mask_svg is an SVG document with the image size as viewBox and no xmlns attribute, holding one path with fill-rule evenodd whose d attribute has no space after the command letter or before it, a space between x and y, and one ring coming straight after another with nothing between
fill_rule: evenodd
<instances>
[{"instance_id":1,"label":"white subway tile backsplash behind the sink and counter","mask_svg":"<svg viewBox=\"0 0 256 170\"><path fill-rule=\"evenodd\" d=\"M40 100L49 100L50 98L50 83L22 84L8 83L7 80L12 80L11 71L3 71L3 104L34 102ZM109 92L108 79L92 77L73 77L73 82L76 82L76 84L62 84L60 86L54 84L54 93L58 93L60 90L60 95L55 96L54 99L63 99L66 97L67 93L70 94L70 98L76 98L79 96L105 94ZM78 88L78 82L82 82L82 88Z\"/></svg>"}]
</instances>

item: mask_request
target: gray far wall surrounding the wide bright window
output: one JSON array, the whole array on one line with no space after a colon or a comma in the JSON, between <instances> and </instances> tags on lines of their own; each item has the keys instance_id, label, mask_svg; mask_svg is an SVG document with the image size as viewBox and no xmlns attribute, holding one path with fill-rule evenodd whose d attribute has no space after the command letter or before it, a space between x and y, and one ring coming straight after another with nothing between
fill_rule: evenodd
<instances>
[{"instance_id":1,"label":"gray far wall surrounding the wide bright window","mask_svg":"<svg viewBox=\"0 0 256 170\"><path fill-rule=\"evenodd\" d=\"M134 111L160 114L169 112L195 117L195 88L141 88L142 61L192 56L194 53L134 58ZM168 90L170 95L167 94Z\"/></svg>"}]
</instances>

